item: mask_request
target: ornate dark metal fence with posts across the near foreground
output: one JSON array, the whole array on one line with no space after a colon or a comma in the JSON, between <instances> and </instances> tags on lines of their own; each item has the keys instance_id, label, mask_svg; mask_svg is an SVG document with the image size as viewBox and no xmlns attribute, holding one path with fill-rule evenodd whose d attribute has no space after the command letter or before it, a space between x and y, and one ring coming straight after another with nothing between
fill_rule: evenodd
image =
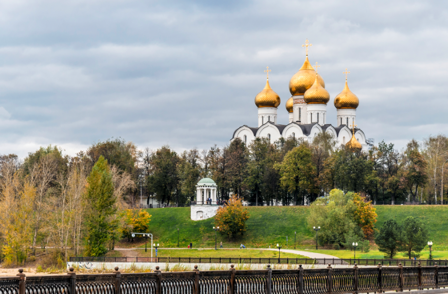
<instances>
[{"instance_id":1,"label":"ornate dark metal fence with posts across the near foreground","mask_svg":"<svg viewBox=\"0 0 448 294\"><path fill-rule=\"evenodd\" d=\"M229 270L0 278L0 294L332 294L448 287L448 266Z\"/></svg>"}]
</instances>

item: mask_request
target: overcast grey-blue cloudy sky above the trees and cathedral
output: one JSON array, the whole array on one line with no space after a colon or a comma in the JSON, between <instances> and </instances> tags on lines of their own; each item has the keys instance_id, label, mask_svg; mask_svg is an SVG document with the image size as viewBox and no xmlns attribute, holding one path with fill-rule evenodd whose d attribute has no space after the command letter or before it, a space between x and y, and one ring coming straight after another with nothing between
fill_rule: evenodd
<instances>
[{"instance_id":1,"label":"overcast grey-blue cloudy sky above the trees and cathedral","mask_svg":"<svg viewBox=\"0 0 448 294\"><path fill-rule=\"evenodd\" d=\"M305 59L334 97L359 97L367 138L402 148L448 134L448 2L0 0L0 154L56 144L74 155L121 137L178 151L256 126L269 82L287 123Z\"/></svg>"}]
</instances>

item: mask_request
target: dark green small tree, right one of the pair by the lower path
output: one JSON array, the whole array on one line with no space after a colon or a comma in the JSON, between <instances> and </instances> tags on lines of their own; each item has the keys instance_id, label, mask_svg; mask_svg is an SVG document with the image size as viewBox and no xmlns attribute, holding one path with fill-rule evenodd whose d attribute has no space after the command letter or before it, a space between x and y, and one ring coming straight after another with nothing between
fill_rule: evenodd
<instances>
[{"instance_id":1,"label":"dark green small tree, right one of the pair by the lower path","mask_svg":"<svg viewBox=\"0 0 448 294\"><path fill-rule=\"evenodd\" d=\"M428 229L423 222L413 216L405 218L401 224L399 251L406 252L409 259L421 256L428 242Z\"/></svg>"}]
</instances>

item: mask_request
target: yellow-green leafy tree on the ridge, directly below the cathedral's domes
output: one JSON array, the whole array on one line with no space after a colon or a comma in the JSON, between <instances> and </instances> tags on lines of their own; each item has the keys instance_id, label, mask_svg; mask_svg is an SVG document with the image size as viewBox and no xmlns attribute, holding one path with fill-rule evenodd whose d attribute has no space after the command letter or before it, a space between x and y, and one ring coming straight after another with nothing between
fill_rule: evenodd
<instances>
[{"instance_id":1,"label":"yellow-green leafy tree on the ridge, directly below the cathedral's domes","mask_svg":"<svg viewBox=\"0 0 448 294\"><path fill-rule=\"evenodd\" d=\"M294 193L294 202L297 204L297 195L300 190L309 191L311 180L316 174L316 168L311 160L311 151L305 144L301 144L289 151L283 162L277 164L276 168L281 175L281 186ZM305 199L302 203L305 204Z\"/></svg>"}]
</instances>

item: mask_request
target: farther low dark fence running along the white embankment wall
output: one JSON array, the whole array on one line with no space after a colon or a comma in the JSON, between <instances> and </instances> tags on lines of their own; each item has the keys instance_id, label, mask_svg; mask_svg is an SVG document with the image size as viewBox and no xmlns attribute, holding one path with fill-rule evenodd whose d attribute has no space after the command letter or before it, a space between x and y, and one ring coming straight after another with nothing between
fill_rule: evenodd
<instances>
[{"instance_id":1,"label":"farther low dark fence running along the white embankment wall","mask_svg":"<svg viewBox=\"0 0 448 294\"><path fill-rule=\"evenodd\" d=\"M259 264L342 264L382 266L448 266L448 260L434 259L337 259L337 258L219 258L219 257L71 257L70 262L174 262L174 263L259 263ZM447 276L448 278L448 276ZM1 293L0 293L1 294Z\"/></svg>"}]
</instances>

